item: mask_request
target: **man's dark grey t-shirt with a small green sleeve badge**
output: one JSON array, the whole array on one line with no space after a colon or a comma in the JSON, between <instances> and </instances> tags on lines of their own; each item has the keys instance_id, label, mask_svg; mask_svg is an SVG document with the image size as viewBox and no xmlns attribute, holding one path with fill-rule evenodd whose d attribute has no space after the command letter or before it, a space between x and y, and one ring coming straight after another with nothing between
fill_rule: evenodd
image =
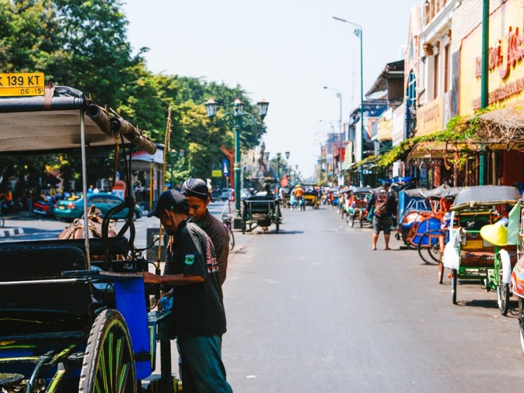
<instances>
[{"instance_id":1,"label":"man's dark grey t-shirt with a small green sleeve badge","mask_svg":"<svg viewBox=\"0 0 524 393\"><path fill-rule=\"evenodd\" d=\"M176 336L220 336L226 333L226 313L215 251L209 236L192 219L174 235L164 274L198 275L204 282L173 287L172 324Z\"/></svg>"}]
</instances>

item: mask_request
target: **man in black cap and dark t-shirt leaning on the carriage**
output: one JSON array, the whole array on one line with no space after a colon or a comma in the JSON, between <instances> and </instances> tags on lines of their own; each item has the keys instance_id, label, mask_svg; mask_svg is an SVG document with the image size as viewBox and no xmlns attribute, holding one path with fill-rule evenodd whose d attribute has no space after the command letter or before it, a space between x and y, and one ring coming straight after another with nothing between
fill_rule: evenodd
<instances>
[{"instance_id":1,"label":"man in black cap and dark t-shirt leaning on the carriage","mask_svg":"<svg viewBox=\"0 0 524 393\"><path fill-rule=\"evenodd\" d=\"M158 217L173 237L164 275L142 275L146 284L173 288L170 335L178 339L184 392L231 393L221 359L226 313L213 243L189 216L179 191L160 194L148 216Z\"/></svg>"}]
</instances>

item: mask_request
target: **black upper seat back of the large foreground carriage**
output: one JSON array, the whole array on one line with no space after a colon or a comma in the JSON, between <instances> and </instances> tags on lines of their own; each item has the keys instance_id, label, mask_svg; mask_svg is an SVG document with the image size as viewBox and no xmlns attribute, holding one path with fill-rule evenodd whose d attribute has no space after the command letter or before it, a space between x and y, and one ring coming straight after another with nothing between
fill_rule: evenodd
<instances>
[{"instance_id":1,"label":"black upper seat back of the large foreground carriage","mask_svg":"<svg viewBox=\"0 0 524 393\"><path fill-rule=\"evenodd\" d=\"M32 281L62 278L67 270L86 270L83 252L77 247L14 246L0 248L0 280Z\"/></svg>"}]
</instances>

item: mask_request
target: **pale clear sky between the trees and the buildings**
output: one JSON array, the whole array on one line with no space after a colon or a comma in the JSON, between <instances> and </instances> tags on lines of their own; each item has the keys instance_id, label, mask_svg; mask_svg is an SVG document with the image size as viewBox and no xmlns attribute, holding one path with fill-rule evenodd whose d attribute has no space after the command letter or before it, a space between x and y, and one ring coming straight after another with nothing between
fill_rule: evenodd
<instances>
[{"instance_id":1,"label":"pale clear sky between the trees and the buildings","mask_svg":"<svg viewBox=\"0 0 524 393\"><path fill-rule=\"evenodd\" d=\"M271 157L290 151L289 163L312 176L319 143L360 99L361 25L364 94L388 62L401 60L409 11L420 0L127 0L128 39L150 48L153 72L202 77L234 86L256 102L270 102L263 140ZM322 122L320 120L323 120ZM220 159L220 158L219 158Z\"/></svg>"}]
</instances>

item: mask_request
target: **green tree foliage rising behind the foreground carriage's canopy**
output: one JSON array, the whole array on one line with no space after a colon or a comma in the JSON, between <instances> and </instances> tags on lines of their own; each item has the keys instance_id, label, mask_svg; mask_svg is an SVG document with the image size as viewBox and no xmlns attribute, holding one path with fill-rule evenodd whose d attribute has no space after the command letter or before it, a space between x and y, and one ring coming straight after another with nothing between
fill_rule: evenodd
<instances>
[{"instance_id":1,"label":"green tree foliage rising behind the foreground carriage's canopy","mask_svg":"<svg viewBox=\"0 0 524 393\"><path fill-rule=\"evenodd\" d=\"M233 146L234 135L226 125L212 123L203 104L213 97L221 104L220 116L240 98L244 111L255 115L247 92L240 85L230 88L202 78L153 74L144 60L147 48L133 54L121 8L119 0L0 0L0 72L41 71L46 80L78 88L97 104L108 105L160 144L171 107L170 147L186 151L183 159L173 158L177 177L209 177L224 157L220 146ZM263 132L260 126L242 130L242 149L258 145ZM8 177L38 184L46 165L60 167L72 178L77 161L64 156L2 157L0 190ZM107 160L97 160L88 165L88 181L111 177L112 171Z\"/></svg>"}]
</instances>

